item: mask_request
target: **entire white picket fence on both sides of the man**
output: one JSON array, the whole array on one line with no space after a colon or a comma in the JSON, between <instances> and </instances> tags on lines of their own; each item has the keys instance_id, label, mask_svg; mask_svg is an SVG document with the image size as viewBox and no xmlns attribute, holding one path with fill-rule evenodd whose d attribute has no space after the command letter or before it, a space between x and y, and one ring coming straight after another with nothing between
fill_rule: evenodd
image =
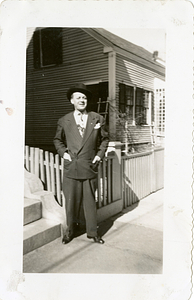
<instances>
[{"instance_id":1,"label":"entire white picket fence on both sides of the man","mask_svg":"<svg viewBox=\"0 0 194 300\"><path fill-rule=\"evenodd\" d=\"M64 160L58 154L25 146L25 168L36 174L44 188L53 192L63 205L62 192ZM107 156L98 167L97 208L122 199L123 208L164 187L164 148L122 156ZM116 175L117 174L117 175ZM120 195L120 196L118 196Z\"/></svg>"}]
</instances>

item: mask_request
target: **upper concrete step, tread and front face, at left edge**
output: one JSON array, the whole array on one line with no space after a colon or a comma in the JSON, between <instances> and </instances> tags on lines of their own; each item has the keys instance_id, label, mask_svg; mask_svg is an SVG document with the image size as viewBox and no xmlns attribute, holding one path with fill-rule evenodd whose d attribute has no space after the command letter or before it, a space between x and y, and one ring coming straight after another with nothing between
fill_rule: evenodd
<instances>
[{"instance_id":1,"label":"upper concrete step, tread and front face, at left edge","mask_svg":"<svg viewBox=\"0 0 194 300\"><path fill-rule=\"evenodd\" d=\"M40 200L24 198L24 225L42 218L42 203Z\"/></svg>"}]
</instances>

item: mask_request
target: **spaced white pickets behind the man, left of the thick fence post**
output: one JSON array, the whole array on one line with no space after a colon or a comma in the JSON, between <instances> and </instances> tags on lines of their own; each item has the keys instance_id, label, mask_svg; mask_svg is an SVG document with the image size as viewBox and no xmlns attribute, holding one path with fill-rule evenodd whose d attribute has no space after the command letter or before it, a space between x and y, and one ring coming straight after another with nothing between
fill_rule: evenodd
<instances>
[{"instance_id":1,"label":"spaced white pickets behind the man, left of the thick fence post","mask_svg":"<svg viewBox=\"0 0 194 300\"><path fill-rule=\"evenodd\" d=\"M43 151L39 148L25 146L25 168L38 176L44 188L52 192L57 201L64 203L62 192L64 160L58 154ZM97 207L100 208L112 202L112 158L107 157L98 167L98 189L96 191Z\"/></svg>"}]
</instances>

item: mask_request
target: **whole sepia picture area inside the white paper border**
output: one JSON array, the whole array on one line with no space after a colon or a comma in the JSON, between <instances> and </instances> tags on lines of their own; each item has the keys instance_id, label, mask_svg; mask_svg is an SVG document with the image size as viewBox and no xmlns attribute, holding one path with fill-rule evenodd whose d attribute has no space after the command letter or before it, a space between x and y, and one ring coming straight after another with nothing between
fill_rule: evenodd
<instances>
[{"instance_id":1,"label":"whole sepia picture area inside the white paper border","mask_svg":"<svg viewBox=\"0 0 194 300\"><path fill-rule=\"evenodd\" d=\"M24 273L162 274L165 31L123 31L27 28Z\"/></svg>"}]
</instances>

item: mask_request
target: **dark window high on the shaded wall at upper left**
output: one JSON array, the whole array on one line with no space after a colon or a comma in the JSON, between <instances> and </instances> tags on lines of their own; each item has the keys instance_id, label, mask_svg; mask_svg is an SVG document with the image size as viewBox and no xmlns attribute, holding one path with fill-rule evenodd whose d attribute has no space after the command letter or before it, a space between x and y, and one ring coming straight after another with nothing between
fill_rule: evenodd
<instances>
[{"instance_id":1,"label":"dark window high on the shaded wall at upper left","mask_svg":"<svg viewBox=\"0 0 194 300\"><path fill-rule=\"evenodd\" d=\"M34 68L62 63L62 29L44 28L34 32Z\"/></svg>"}]
</instances>

